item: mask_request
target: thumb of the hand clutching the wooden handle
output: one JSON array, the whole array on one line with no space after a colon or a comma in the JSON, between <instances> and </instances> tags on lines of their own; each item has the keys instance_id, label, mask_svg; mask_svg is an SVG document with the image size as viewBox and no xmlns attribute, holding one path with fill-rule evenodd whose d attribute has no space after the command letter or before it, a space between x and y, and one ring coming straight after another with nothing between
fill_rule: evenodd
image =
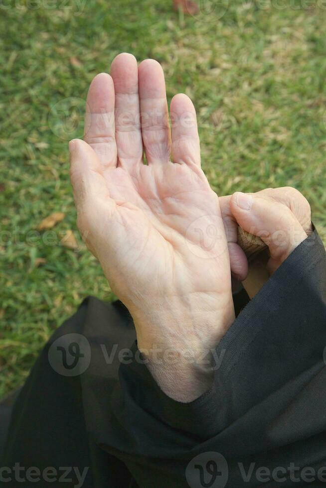
<instances>
[{"instance_id":1,"label":"thumb of the hand clutching the wooden handle","mask_svg":"<svg viewBox=\"0 0 326 488\"><path fill-rule=\"evenodd\" d=\"M307 238L291 210L271 198L236 192L231 197L230 209L243 230L260 237L268 245L270 272Z\"/></svg>"}]
</instances>

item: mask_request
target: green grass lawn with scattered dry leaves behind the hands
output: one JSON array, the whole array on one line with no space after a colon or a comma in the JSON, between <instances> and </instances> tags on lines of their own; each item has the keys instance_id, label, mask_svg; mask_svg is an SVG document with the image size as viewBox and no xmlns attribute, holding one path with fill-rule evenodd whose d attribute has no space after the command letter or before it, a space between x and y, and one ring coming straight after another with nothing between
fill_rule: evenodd
<instances>
[{"instance_id":1,"label":"green grass lawn with scattered dry leaves behind the hands","mask_svg":"<svg viewBox=\"0 0 326 488\"><path fill-rule=\"evenodd\" d=\"M160 61L169 99L192 98L203 168L220 195L295 186L326 237L326 9L317 1L232 0L221 18L184 16L172 0L88 0L81 11L77 0L55 3L0 8L0 397L83 297L112 299L80 240L77 251L58 242L67 230L77 236L67 141L82 135L90 81L121 51ZM65 219L48 245L35 230L56 211Z\"/></svg>"}]
</instances>

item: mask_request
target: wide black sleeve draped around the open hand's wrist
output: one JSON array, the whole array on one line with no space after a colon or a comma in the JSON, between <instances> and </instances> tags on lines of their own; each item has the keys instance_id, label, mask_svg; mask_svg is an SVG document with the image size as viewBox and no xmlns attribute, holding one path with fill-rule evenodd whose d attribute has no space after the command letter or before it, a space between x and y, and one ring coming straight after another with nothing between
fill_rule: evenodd
<instances>
[{"instance_id":1,"label":"wide black sleeve draped around the open hand's wrist","mask_svg":"<svg viewBox=\"0 0 326 488\"><path fill-rule=\"evenodd\" d=\"M163 393L135 344L102 447L141 488L326 485L325 278L315 231L239 314L191 403Z\"/></svg>"}]
</instances>

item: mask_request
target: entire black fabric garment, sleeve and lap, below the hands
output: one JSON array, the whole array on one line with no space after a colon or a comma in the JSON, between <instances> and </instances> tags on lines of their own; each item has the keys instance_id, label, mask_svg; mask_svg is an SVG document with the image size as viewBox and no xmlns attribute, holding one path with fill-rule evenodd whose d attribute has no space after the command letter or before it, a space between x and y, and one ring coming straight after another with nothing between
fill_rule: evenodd
<instances>
[{"instance_id":1,"label":"entire black fabric garment, sleeve and lap, below the hands","mask_svg":"<svg viewBox=\"0 0 326 488\"><path fill-rule=\"evenodd\" d=\"M20 392L2 465L89 467L87 488L326 486L325 278L315 231L238 315L211 389L186 404L154 381L123 305L85 300ZM48 485L61 486L3 483Z\"/></svg>"}]
</instances>

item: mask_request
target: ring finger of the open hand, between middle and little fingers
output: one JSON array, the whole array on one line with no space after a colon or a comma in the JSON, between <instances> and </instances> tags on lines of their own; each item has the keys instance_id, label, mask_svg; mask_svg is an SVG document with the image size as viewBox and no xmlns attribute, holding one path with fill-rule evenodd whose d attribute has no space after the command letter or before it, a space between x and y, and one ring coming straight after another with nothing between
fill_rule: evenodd
<instances>
[{"instance_id":1,"label":"ring finger of the open hand, between middle and little fingers","mask_svg":"<svg viewBox=\"0 0 326 488\"><path fill-rule=\"evenodd\" d=\"M146 59L138 68L142 136L149 164L170 158L171 136L162 66Z\"/></svg>"}]
</instances>

